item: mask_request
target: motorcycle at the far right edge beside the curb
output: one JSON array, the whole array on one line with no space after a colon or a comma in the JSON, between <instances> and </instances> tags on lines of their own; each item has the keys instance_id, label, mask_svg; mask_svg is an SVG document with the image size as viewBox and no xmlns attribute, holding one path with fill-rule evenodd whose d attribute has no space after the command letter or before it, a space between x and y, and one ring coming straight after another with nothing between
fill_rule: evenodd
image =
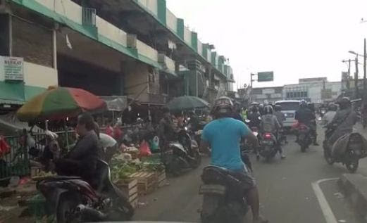
<instances>
[{"instance_id":1,"label":"motorcycle at the far right edge beside the curb","mask_svg":"<svg viewBox=\"0 0 367 223\"><path fill-rule=\"evenodd\" d=\"M359 159L367 156L366 149L363 148L363 136L359 133L346 134L344 140L347 140L347 147L342 155L333 156L332 148L328 145L328 139L332 135L332 129L327 129L325 132L324 146L324 158L329 165L334 163L342 163L347 167L349 172L354 173L359 167ZM340 139L342 139L342 137ZM343 140L339 139L336 141L335 148L344 146Z\"/></svg>"}]
</instances>

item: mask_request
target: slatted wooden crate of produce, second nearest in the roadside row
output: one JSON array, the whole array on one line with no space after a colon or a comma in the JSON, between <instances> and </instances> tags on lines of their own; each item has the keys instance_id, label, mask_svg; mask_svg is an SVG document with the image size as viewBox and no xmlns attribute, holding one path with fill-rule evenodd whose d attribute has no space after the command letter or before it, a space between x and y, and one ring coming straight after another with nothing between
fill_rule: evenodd
<instances>
[{"instance_id":1,"label":"slatted wooden crate of produce, second nearest in the roadside row","mask_svg":"<svg viewBox=\"0 0 367 223\"><path fill-rule=\"evenodd\" d=\"M146 195L156 189L157 178L154 172L136 172L130 178L137 179L137 193Z\"/></svg>"}]
</instances>

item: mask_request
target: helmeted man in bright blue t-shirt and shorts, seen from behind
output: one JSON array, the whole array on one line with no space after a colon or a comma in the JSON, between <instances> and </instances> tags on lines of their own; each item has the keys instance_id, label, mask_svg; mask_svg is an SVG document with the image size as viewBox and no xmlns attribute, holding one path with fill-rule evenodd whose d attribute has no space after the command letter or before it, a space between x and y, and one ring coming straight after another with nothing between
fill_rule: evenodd
<instances>
[{"instance_id":1,"label":"helmeted man in bright blue t-shirt and shorts, seen from behind","mask_svg":"<svg viewBox=\"0 0 367 223\"><path fill-rule=\"evenodd\" d=\"M259 215L259 192L254 178L242 162L240 141L247 139L254 146L259 142L251 130L239 120L232 118L233 104L230 98L217 98L213 106L215 120L210 122L201 135L200 149L211 153L211 165L231 170L244 184L244 196L251 206L254 222L268 222ZM211 151L209 150L209 146Z\"/></svg>"}]
</instances>

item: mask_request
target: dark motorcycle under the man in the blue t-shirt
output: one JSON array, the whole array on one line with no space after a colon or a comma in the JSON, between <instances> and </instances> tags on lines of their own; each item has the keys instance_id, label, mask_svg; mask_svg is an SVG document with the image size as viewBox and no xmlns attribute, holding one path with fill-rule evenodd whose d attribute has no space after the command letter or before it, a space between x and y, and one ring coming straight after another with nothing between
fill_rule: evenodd
<instances>
[{"instance_id":1,"label":"dark motorcycle under the man in the blue t-shirt","mask_svg":"<svg viewBox=\"0 0 367 223\"><path fill-rule=\"evenodd\" d=\"M244 196L239 196L244 193L240 179L230 170L216 166L205 167L201 179L201 222L243 222L249 208Z\"/></svg>"}]
</instances>

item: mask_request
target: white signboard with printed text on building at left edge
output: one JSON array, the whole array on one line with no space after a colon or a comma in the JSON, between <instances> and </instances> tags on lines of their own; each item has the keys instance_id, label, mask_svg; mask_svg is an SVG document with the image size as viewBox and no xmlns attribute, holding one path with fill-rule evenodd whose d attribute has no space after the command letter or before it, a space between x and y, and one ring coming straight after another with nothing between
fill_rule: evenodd
<instances>
[{"instance_id":1,"label":"white signboard with printed text on building at left edge","mask_svg":"<svg viewBox=\"0 0 367 223\"><path fill-rule=\"evenodd\" d=\"M0 57L2 65L0 67L1 76L4 77L4 80L16 80L23 81L23 58L20 57Z\"/></svg>"}]
</instances>

